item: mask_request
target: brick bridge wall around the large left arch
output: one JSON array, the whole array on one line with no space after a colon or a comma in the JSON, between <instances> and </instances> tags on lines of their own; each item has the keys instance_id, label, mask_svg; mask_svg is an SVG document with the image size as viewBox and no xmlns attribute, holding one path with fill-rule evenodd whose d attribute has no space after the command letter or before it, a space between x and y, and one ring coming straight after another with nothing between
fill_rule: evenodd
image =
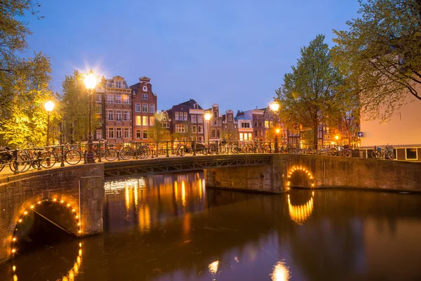
<instances>
[{"instance_id":1,"label":"brick bridge wall around the large left arch","mask_svg":"<svg viewBox=\"0 0 421 281\"><path fill-rule=\"evenodd\" d=\"M67 213L67 218L72 216L75 224L81 223L81 226L67 228L58 216L48 218L46 208L39 208L43 216L69 233L80 237L102 232L103 197L104 164L101 163L31 171L1 178L0 263L11 257L12 239L19 220L25 219L27 214L36 211L36 207L45 202L61 204L60 210Z\"/></svg>"}]
</instances>

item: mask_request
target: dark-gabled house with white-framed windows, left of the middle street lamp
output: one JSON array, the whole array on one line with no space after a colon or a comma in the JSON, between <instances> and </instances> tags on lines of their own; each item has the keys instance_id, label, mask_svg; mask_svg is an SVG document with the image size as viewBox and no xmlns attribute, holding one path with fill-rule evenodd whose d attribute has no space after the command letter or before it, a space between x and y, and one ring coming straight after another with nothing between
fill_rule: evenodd
<instances>
[{"instance_id":1,"label":"dark-gabled house with white-framed windows, left of the middle street lamp","mask_svg":"<svg viewBox=\"0 0 421 281\"><path fill-rule=\"evenodd\" d=\"M204 141L203 108L196 100L179 103L166 112L176 141Z\"/></svg>"}]
</instances>

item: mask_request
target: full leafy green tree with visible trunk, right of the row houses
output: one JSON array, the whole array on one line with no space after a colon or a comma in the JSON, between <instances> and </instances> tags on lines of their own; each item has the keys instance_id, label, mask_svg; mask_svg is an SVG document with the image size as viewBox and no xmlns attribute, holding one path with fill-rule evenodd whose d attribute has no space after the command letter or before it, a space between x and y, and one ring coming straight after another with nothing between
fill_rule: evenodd
<instances>
[{"instance_id":1,"label":"full leafy green tree with visible trunk, right of the row houses","mask_svg":"<svg viewBox=\"0 0 421 281\"><path fill-rule=\"evenodd\" d=\"M283 85L276 90L281 119L290 126L300 124L303 129L312 129L314 147L317 147L317 128L333 110L335 88L341 83L338 70L330 63L324 38L318 35L309 46L301 48L297 66L285 74Z\"/></svg>"}]
</instances>

